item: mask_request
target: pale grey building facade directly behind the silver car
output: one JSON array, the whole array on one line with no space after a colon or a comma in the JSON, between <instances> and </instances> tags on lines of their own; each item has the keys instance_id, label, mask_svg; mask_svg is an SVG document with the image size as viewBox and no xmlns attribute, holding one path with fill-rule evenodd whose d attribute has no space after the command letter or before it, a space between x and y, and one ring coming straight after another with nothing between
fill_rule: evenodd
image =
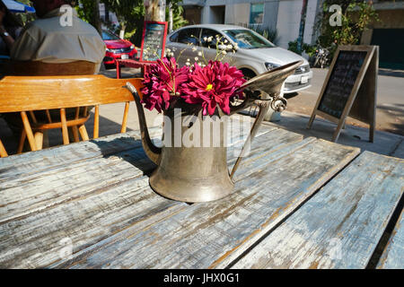
<instances>
[{"instance_id":1,"label":"pale grey building facade directly behind the silver car","mask_svg":"<svg viewBox=\"0 0 404 287\"><path fill-rule=\"evenodd\" d=\"M321 0L308 0L303 40L315 42L313 24ZM189 24L259 25L277 30L277 45L287 48L299 36L302 0L183 0Z\"/></svg>"}]
</instances>

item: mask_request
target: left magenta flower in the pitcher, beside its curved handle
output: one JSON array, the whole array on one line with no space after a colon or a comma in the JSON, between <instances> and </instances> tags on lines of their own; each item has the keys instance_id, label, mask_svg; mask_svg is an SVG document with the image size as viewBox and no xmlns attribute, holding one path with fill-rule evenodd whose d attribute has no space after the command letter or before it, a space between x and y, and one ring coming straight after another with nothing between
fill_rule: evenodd
<instances>
[{"instance_id":1,"label":"left magenta flower in the pitcher, beside its curved handle","mask_svg":"<svg viewBox=\"0 0 404 287\"><path fill-rule=\"evenodd\" d=\"M151 65L150 70L145 72L142 89L144 94L142 103L146 109L162 110L169 109L170 103L181 93L181 84L188 80L189 68L178 68L175 58L163 57L157 60L157 64Z\"/></svg>"}]
</instances>

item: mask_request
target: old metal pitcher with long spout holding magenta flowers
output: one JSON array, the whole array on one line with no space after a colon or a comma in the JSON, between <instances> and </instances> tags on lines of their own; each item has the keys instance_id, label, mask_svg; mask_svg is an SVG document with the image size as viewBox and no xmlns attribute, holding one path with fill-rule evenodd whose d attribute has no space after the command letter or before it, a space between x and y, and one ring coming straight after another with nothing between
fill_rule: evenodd
<instances>
[{"instance_id":1,"label":"old metal pitcher with long spout holding magenta flowers","mask_svg":"<svg viewBox=\"0 0 404 287\"><path fill-rule=\"evenodd\" d=\"M154 191L161 196L187 203L208 202L232 194L234 172L239 167L245 152L250 149L250 143L268 109L272 108L277 111L285 109L286 100L279 97L280 89L286 77L293 74L299 65L302 65L301 61L278 67L267 73L259 74L242 85L241 89L245 93L245 100L240 105L231 106L231 115L250 107L252 104L258 105L259 113L231 172L227 170L225 117L221 117L220 122L216 123L216 128L219 130L215 132L220 135L220 138L215 138L215 145L206 147L204 144L199 146L180 144L178 146L175 136L180 135L182 139L185 133L199 135L199 143L205 143L204 136L206 136L202 132L204 117L201 109L190 110L189 105L186 107L178 104L176 108L181 110L180 113L176 112L176 109L169 109L164 112L163 144L162 148L157 147L150 139L145 122L145 112L136 88L131 83L127 83L127 88L133 93L136 101L145 153L157 165L150 177L150 186ZM260 100L260 93L262 92L266 93L270 99ZM178 126L173 124L176 120L181 123L188 120L189 124ZM180 133L178 128L180 128ZM215 132L214 129L210 130L209 139L213 140L214 135L217 135Z\"/></svg>"}]
</instances>

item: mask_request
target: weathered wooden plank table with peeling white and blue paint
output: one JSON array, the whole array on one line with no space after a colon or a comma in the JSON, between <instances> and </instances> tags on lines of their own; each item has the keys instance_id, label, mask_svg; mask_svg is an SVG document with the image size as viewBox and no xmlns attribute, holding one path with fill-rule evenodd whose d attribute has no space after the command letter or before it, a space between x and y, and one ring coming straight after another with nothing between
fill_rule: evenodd
<instances>
[{"instance_id":1,"label":"weathered wooden plank table with peeling white and blue paint","mask_svg":"<svg viewBox=\"0 0 404 287\"><path fill-rule=\"evenodd\" d=\"M403 268L402 216L375 256L402 209L403 167L263 125L233 195L185 204L149 187L138 132L11 156L0 267Z\"/></svg>"}]
</instances>

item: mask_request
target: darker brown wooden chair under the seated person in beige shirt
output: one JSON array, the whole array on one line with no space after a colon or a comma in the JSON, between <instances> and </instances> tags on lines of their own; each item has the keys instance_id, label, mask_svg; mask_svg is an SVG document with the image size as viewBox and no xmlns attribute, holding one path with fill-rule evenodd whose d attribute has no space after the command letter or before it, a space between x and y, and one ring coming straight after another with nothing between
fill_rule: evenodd
<instances>
[{"instance_id":1,"label":"darker brown wooden chair under the seated person in beige shirt","mask_svg":"<svg viewBox=\"0 0 404 287\"><path fill-rule=\"evenodd\" d=\"M50 64L43 63L40 61L10 61L5 64L4 71L7 75L21 75L21 76L52 76L52 75L83 75L83 74L95 74L95 64L87 61L75 61L71 63L63 64ZM40 97L39 97L40 99ZM48 122L40 123L35 117L33 111L29 111L32 122L32 130L34 132L34 137L37 143L37 148L41 149L43 144L44 132L49 129L61 128L62 122L52 121L52 117L49 110L45 110ZM83 109L82 114L80 114L80 109L76 109L75 118L67 119L67 126L72 129L75 142L78 142L79 131L82 135L83 140L88 139L87 131L85 130L84 123L89 119L89 114L87 109ZM17 153L22 152L22 148L26 139L25 130L22 130L22 135L20 137L20 144L18 146ZM65 143L65 141L64 141Z\"/></svg>"}]
</instances>

